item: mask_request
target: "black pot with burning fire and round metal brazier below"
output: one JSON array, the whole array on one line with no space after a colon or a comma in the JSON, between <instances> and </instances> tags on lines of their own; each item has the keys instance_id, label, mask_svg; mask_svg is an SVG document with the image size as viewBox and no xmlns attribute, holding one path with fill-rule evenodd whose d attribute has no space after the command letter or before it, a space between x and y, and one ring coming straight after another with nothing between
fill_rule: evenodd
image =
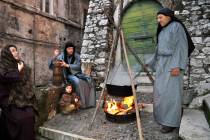
<instances>
[{"instance_id":1,"label":"black pot with burning fire and round metal brazier below","mask_svg":"<svg viewBox=\"0 0 210 140\"><path fill-rule=\"evenodd\" d=\"M111 122L126 123L135 120L134 96L131 86L107 84L104 112ZM136 87L136 86L135 86Z\"/></svg>"}]
</instances>

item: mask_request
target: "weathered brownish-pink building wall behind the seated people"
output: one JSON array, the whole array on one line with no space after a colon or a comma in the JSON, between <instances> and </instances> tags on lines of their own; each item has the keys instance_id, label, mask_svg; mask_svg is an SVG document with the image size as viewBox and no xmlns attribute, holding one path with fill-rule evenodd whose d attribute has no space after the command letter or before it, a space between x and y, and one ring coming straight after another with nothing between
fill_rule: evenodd
<instances>
[{"instance_id":1,"label":"weathered brownish-pink building wall behind the seated people","mask_svg":"<svg viewBox=\"0 0 210 140\"><path fill-rule=\"evenodd\" d=\"M0 48L15 44L33 69L36 86L52 77L47 61L72 40L81 47L88 0L0 0Z\"/></svg>"}]
</instances>

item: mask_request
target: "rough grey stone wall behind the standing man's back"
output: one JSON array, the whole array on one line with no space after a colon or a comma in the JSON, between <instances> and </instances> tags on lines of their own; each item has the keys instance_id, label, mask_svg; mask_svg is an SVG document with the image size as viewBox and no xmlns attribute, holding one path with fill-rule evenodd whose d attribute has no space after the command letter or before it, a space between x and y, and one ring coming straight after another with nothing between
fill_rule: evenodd
<instances>
[{"instance_id":1,"label":"rough grey stone wall behind the standing man's back","mask_svg":"<svg viewBox=\"0 0 210 140\"><path fill-rule=\"evenodd\" d=\"M210 82L210 0L183 0L180 17L196 49L191 56L191 86Z\"/></svg>"}]
</instances>

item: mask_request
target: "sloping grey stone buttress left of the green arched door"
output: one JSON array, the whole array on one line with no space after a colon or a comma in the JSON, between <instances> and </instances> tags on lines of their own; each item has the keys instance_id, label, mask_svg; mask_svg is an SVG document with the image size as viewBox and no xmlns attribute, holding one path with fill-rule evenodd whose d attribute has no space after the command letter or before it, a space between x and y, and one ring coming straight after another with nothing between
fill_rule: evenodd
<instances>
[{"instance_id":1,"label":"sloping grey stone buttress left of the green arched door","mask_svg":"<svg viewBox=\"0 0 210 140\"><path fill-rule=\"evenodd\" d=\"M106 12L111 10L110 0L90 0L85 24L81 59L83 64L94 65L91 76L99 81L105 77L110 51L111 27Z\"/></svg>"}]
</instances>

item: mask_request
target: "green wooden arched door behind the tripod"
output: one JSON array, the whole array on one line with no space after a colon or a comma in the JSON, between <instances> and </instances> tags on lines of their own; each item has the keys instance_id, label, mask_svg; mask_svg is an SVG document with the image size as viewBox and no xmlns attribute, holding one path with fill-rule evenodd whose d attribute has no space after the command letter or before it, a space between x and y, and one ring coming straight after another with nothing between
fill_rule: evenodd
<instances>
[{"instance_id":1,"label":"green wooden arched door behind the tripod","mask_svg":"<svg viewBox=\"0 0 210 140\"><path fill-rule=\"evenodd\" d=\"M123 15L122 27L126 41L143 62L151 57L155 50L156 13L160 8L160 4L155 0L138 0L130 5ZM134 69L139 67L131 53L129 61Z\"/></svg>"}]
</instances>

